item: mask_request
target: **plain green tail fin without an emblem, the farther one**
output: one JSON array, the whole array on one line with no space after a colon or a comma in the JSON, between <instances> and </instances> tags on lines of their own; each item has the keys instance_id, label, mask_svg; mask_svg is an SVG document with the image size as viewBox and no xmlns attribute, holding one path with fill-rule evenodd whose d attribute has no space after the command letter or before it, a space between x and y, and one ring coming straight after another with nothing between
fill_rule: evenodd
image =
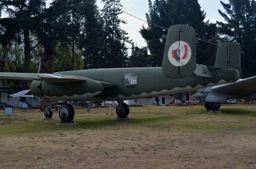
<instances>
[{"instance_id":1,"label":"plain green tail fin without an emblem, the farther one","mask_svg":"<svg viewBox=\"0 0 256 169\"><path fill-rule=\"evenodd\" d=\"M215 67L237 69L241 76L241 47L230 42L219 44Z\"/></svg>"}]
</instances>

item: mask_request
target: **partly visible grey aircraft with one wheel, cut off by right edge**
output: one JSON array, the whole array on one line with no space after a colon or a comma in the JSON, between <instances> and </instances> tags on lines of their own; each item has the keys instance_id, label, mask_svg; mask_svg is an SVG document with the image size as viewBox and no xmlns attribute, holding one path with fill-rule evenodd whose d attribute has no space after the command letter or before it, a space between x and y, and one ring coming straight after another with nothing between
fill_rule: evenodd
<instances>
[{"instance_id":1,"label":"partly visible grey aircraft with one wheel, cut off by right edge","mask_svg":"<svg viewBox=\"0 0 256 169\"><path fill-rule=\"evenodd\" d=\"M244 78L234 83L221 84L197 91L193 97L200 98L205 102L207 110L218 111L221 103L226 103L230 98L248 97L256 100L256 77Z\"/></svg>"}]
</instances>

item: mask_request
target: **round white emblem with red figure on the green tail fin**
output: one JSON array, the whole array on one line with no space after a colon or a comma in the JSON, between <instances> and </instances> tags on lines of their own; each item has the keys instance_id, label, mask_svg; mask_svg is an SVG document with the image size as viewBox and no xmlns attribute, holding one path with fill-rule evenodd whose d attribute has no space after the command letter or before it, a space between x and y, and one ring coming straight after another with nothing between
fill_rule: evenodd
<instances>
[{"instance_id":1,"label":"round white emblem with red figure on the green tail fin","mask_svg":"<svg viewBox=\"0 0 256 169\"><path fill-rule=\"evenodd\" d=\"M177 41L169 48L168 58L174 66L184 66L190 61L191 48L185 41Z\"/></svg>"}]
</instances>

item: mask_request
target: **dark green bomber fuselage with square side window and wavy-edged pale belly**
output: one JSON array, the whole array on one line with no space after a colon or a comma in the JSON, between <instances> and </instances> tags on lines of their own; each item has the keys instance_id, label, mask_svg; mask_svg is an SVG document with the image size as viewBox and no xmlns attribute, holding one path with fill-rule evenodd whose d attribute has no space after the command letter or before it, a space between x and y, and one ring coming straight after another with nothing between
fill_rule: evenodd
<instances>
[{"instance_id":1,"label":"dark green bomber fuselage with square side window and wavy-edged pale belly","mask_svg":"<svg viewBox=\"0 0 256 169\"><path fill-rule=\"evenodd\" d=\"M163 75L162 67L90 69L57 72L55 73L56 75L76 75L116 85L105 86L101 91L100 86L91 84L90 89L94 87L99 89L95 89L93 92L88 91L81 95L78 91L82 91L84 89L84 83L77 83L75 86L69 83L69 87L65 86L63 88L62 85L65 84L59 84L57 88L54 88L55 92L57 92L56 90L59 90L59 93L65 93L65 91L69 90L73 95L44 94L41 96L44 98L59 100L127 100L193 91L199 88L227 83L238 78L238 72L235 69L209 69L214 75L213 78L199 77L196 74L192 74L184 78L168 78ZM87 83L87 81L85 83ZM51 91L51 89L48 89L48 91Z\"/></svg>"}]
</instances>

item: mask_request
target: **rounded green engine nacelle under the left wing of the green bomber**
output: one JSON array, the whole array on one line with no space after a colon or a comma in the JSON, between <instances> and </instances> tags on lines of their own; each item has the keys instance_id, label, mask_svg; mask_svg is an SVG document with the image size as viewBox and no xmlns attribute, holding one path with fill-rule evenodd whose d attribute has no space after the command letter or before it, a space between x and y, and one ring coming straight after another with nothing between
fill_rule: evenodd
<instances>
[{"instance_id":1,"label":"rounded green engine nacelle under the left wing of the green bomber","mask_svg":"<svg viewBox=\"0 0 256 169\"><path fill-rule=\"evenodd\" d=\"M82 99L94 97L101 93L104 86L95 80L73 81L72 83L51 83L46 81L32 81L30 91L35 97Z\"/></svg>"}]
</instances>

